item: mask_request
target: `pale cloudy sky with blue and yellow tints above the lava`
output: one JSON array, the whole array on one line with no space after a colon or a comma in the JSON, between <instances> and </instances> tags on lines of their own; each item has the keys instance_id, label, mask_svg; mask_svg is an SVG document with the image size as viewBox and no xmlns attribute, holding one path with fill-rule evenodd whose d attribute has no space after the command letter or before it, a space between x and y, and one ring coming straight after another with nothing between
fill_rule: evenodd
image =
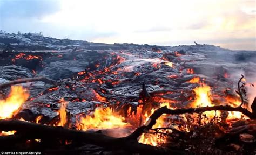
<instances>
[{"instance_id":1,"label":"pale cloudy sky with blue and yellow tints above the lava","mask_svg":"<svg viewBox=\"0 0 256 155\"><path fill-rule=\"evenodd\" d=\"M0 30L59 39L256 50L256 0L0 0Z\"/></svg>"}]
</instances>

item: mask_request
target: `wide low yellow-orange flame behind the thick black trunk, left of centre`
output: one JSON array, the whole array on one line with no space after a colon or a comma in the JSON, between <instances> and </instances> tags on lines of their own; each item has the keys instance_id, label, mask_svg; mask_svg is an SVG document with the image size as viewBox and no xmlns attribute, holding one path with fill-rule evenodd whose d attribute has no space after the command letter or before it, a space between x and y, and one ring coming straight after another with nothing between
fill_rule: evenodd
<instances>
[{"instance_id":1,"label":"wide low yellow-orange flame behind the thick black trunk, left of centre","mask_svg":"<svg viewBox=\"0 0 256 155\"><path fill-rule=\"evenodd\" d=\"M111 108L96 108L93 116L80 118L77 123L79 130L88 129L111 129L128 125L124 123L124 117L114 112Z\"/></svg>"}]
</instances>

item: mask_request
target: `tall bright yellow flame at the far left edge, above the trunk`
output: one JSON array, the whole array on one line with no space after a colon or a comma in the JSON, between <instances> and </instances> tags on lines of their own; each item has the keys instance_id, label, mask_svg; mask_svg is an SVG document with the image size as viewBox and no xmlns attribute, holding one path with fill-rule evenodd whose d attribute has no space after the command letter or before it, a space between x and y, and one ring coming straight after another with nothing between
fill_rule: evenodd
<instances>
[{"instance_id":1,"label":"tall bright yellow flame at the far left edge, above the trunk","mask_svg":"<svg viewBox=\"0 0 256 155\"><path fill-rule=\"evenodd\" d=\"M8 97L0 100L0 119L11 118L28 98L26 89L22 86L12 86Z\"/></svg>"}]
</instances>

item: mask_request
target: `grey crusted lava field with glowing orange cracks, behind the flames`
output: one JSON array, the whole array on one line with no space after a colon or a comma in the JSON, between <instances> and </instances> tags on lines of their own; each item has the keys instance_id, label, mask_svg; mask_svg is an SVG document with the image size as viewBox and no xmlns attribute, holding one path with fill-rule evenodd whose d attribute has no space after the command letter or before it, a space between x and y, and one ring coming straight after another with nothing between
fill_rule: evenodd
<instances>
[{"instance_id":1,"label":"grey crusted lava field with glowing orange cracks, behind the flames","mask_svg":"<svg viewBox=\"0 0 256 155\"><path fill-rule=\"evenodd\" d=\"M43 115L45 122L55 119L61 98L72 102L67 109L74 118L98 106L134 109L143 83L156 102L186 107L195 97L193 89L199 82L189 81L196 77L212 88L213 101L224 105L228 104L224 101L227 95L236 96L241 74L248 82L256 81L256 51L197 43L111 45L33 33L0 33L0 60L0 83L37 76L61 81L58 86L23 84L29 89L30 99L19 117L29 121L38 115ZM2 94L8 91L2 90ZM248 90L248 104L253 93Z\"/></svg>"}]
</instances>

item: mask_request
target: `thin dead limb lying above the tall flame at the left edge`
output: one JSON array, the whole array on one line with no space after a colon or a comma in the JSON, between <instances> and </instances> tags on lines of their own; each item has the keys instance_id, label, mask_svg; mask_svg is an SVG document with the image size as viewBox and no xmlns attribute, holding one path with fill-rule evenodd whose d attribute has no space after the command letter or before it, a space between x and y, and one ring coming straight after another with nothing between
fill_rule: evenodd
<instances>
[{"instance_id":1,"label":"thin dead limb lying above the tall flame at the left edge","mask_svg":"<svg viewBox=\"0 0 256 155\"><path fill-rule=\"evenodd\" d=\"M56 85L58 83L55 80L51 80L51 79L48 79L48 78L45 78L45 77L41 76L41 77L36 77L36 78L25 78L25 79L18 79L18 80L6 82L6 83L3 83L3 84L0 84L0 89L10 87L10 86L13 86L15 84L36 82L36 81L42 81L42 82L50 83L50 84L53 84L53 85Z\"/></svg>"}]
</instances>

